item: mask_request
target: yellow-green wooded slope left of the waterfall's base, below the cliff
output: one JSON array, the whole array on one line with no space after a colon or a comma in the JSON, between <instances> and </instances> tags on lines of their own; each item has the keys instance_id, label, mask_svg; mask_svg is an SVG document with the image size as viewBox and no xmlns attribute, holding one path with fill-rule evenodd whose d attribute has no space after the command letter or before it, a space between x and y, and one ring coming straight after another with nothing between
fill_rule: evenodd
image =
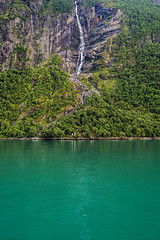
<instances>
[{"instance_id":1,"label":"yellow-green wooded slope left of the waterfall's base, below the cliff","mask_svg":"<svg viewBox=\"0 0 160 240\"><path fill-rule=\"evenodd\" d=\"M55 55L38 69L0 73L0 136L33 137L77 104L77 91Z\"/></svg>"}]
</instances>

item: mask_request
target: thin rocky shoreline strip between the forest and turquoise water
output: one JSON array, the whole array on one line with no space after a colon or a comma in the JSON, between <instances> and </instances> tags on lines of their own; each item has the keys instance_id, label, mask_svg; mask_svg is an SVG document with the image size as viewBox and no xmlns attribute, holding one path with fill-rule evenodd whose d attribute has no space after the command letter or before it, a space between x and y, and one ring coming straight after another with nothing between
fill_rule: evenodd
<instances>
[{"instance_id":1,"label":"thin rocky shoreline strip between the forest and turquoise water","mask_svg":"<svg viewBox=\"0 0 160 240\"><path fill-rule=\"evenodd\" d=\"M63 137L63 138L0 138L0 140L38 140L38 141L43 141L43 140L63 140L63 141L78 141L78 140L118 140L118 141L124 141L124 140L160 140L160 137L107 137L107 138L96 138L96 137L91 137L91 138L74 138L74 137Z\"/></svg>"}]
</instances>

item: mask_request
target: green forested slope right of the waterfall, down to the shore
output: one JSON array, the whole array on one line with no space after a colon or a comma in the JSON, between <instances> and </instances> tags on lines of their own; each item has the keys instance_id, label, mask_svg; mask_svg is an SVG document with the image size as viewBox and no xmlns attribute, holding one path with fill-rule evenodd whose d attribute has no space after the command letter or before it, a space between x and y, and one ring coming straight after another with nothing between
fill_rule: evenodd
<instances>
[{"instance_id":1,"label":"green forested slope right of the waterfall, down to the shore","mask_svg":"<svg viewBox=\"0 0 160 240\"><path fill-rule=\"evenodd\" d=\"M112 67L100 58L89 79L102 97L88 99L72 116L44 129L42 136L54 137L55 128L61 137L71 132L76 137L160 136L159 5L146 0L116 5L125 15L121 34L108 42Z\"/></svg>"}]
</instances>

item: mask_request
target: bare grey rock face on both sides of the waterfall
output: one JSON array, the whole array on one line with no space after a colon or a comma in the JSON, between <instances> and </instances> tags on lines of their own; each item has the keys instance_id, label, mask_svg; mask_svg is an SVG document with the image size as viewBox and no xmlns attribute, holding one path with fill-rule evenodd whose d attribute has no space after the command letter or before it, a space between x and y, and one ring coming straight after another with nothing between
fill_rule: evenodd
<instances>
[{"instance_id":1,"label":"bare grey rock face on both sides of the waterfall","mask_svg":"<svg viewBox=\"0 0 160 240\"><path fill-rule=\"evenodd\" d=\"M66 70L75 72L79 30L74 10L71 14L54 16L49 10L41 14L42 0L11 0L0 2L0 65L1 70L37 66L58 53L66 63ZM86 57L84 71L92 70L106 41L120 31L121 12L103 4L84 7L78 2L80 21L85 33Z\"/></svg>"}]
</instances>

